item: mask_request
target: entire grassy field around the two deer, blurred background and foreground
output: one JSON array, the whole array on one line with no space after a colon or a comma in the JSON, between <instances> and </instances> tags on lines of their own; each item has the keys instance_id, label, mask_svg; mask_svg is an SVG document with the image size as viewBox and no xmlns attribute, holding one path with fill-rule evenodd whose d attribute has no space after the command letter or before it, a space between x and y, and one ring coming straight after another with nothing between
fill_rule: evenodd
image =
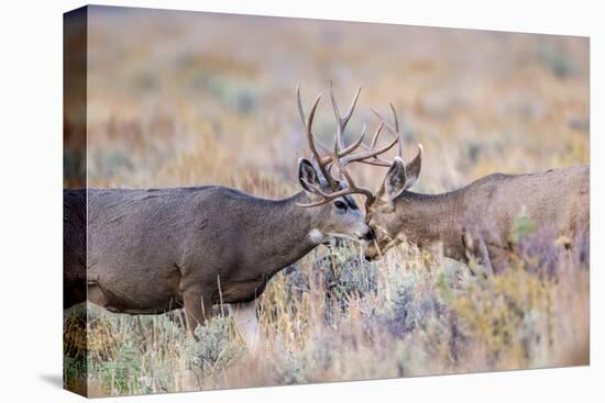
<instances>
[{"instance_id":1,"label":"entire grassy field around the two deer, blurred background and foreground","mask_svg":"<svg viewBox=\"0 0 605 403\"><path fill-rule=\"evenodd\" d=\"M404 155L425 148L417 191L588 163L585 38L101 9L89 21L89 187L293 194L308 156L295 87L310 103L330 79L342 104L363 87L351 133L395 104ZM331 141L327 99L316 127ZM373 189L384 173L353 172ZM527 254L487 278L414 245L373 264L355 245L320 246L257 300L256 354L220 306L200 342L179 315L90 306L87 352L69 311L66 380L78 383L82 354L92 395L585 365L586 250L526 227Z\"/></svg>"}]
</instances>

